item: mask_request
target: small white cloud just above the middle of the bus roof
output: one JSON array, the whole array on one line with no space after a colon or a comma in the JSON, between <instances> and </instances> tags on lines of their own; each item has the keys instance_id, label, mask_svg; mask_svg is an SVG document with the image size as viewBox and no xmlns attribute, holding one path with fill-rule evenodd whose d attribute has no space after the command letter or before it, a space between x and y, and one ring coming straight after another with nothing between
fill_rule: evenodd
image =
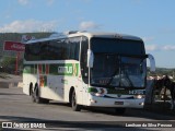
<instances>
[{"instance_id":1,"label":"small white cloud just above the middle of the bus roof","mask_svg":"<svg viewBox=\"0 0 175 131\"><path fill-rule=\"evenodd\" d=\"M98 29L100 25L95 24L92 21L88 21L88 22L81 22L79 28L80 29Z\"/></svg>"}]
</instances>

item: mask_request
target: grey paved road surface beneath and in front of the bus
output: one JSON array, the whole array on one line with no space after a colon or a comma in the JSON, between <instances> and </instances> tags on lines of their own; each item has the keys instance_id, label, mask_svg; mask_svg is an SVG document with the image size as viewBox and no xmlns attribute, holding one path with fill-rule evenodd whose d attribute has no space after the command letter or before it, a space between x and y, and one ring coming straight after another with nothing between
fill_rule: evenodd
<instances>
[{"instance_id":1,"label":"grey paved road surface beneath and in front of the bus","mask_svg":"<svg viewBox=\"0 0 175 131\"><path fill-rule=\"evenodd\" d=\"M81 111L72 111L69 105L58 102L50 102L47 105L34 104L30 96L22 93L20 87L0 87L0 121L1 124L4 121L12 122L13 128L18 128L20 123L23 126L21 128L30 128L27 126L31 123L45 124L43 124L43 129L35 130L101 131L106 128L116 130L116 128L122 129L122 127L136 127L135 130L173 130L173 128L158 128L158 126L172 124L174 127L175 116L164 116L143 109L127 109L122 116L116 115L113 109L83 108ZM153 128L155 126L156 128ZM24 130L21 128L18 130ZM122 130L129 131L130 128Z\"/></svg>"}]
</instances>

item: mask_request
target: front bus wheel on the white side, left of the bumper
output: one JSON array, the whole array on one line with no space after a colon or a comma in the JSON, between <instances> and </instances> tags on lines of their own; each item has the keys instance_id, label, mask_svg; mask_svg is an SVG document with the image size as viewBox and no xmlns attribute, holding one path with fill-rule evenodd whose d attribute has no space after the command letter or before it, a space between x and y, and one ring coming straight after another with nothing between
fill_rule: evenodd
<instances>
[{"instance_id":1,"label":"front bus wheel on the white side, left of the bumper","mask_svg":"<svg viewBox=\"0 0 175 131\"><path fill-rule=\"evenodd\" d=\"M77 96L75 96L75 92L72 92L72 97L71 97L71 106L73 111L80 111L81 110L81 105L77 104Z\"/></svg>"}]
</instances>

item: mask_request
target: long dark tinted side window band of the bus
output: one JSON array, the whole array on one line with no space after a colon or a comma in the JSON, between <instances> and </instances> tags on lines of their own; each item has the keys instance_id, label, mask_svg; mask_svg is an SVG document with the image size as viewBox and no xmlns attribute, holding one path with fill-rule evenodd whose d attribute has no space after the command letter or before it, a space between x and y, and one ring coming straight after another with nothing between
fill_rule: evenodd
<instances>
[{"instance_id":1,"label":"long dark tinted side window band of the bus","mask_svg":"<svg viewBox=\"0 0 175 131\"><path fill-rule=\"evenodd\" d=\"M28 44L25 60L79 60L81 37Z\"/></svg>"}]
</instances>

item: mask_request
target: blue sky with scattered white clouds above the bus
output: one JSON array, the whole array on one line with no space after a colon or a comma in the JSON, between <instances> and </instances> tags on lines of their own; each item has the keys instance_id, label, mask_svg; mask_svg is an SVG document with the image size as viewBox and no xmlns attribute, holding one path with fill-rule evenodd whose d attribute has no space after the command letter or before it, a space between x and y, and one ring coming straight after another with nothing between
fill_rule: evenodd
<instances>
[{"instance_id":1,"label":"blue sky with scattered white clouds above the bus","mask_svg":"<svg viewBox=\"0 0 175 131\"><path fill-rule=\"evenodd\" d=\"M116 32L139 36L175 68L175 0L1 0L0 33Z\"/></svg>"}]
</instances>

